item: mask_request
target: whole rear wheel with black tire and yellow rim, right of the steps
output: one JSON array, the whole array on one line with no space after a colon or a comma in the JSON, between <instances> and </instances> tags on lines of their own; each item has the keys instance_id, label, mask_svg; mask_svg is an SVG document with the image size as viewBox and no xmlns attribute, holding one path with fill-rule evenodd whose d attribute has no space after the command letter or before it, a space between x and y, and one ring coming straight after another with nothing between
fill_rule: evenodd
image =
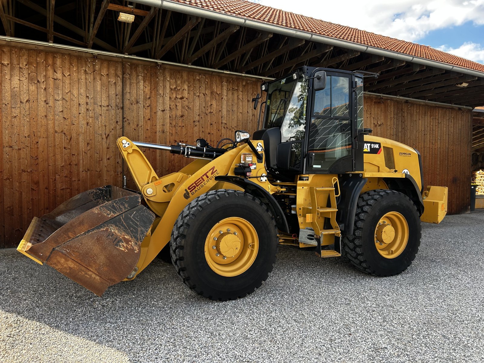
<instances>
[{"instance_id":1,"label":"whole rear wheel with black tire and yellow rim, right of the steps","mask_svg":"<svg viewBox=\"0 0 484 363\"><path fill-rule=\"evenodd\" d=\"M417 208L406 195L371 190L358 199L353 234L343 236L344 253L363 272L393 276L405 271L415 259L421 229Z\"/></svg>"}]
</instances>

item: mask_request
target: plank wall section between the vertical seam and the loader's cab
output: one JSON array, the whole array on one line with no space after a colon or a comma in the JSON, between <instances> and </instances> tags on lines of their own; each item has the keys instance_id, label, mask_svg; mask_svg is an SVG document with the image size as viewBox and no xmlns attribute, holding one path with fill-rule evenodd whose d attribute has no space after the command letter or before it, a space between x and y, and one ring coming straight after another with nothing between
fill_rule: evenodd
<instances>
[{"instance_id":1,"label":"plank wall section between the vertical seam and the loader's cab","mask_svg":"<svg viewBox=\"0 0 484 363\"><path fill-rule=\"evenodd\" d=\"M184 68L123 64L124 135L158 144L199 137L216 146L235 130L257 130L252 97L260 80ZM143 149L159 176L179 170L191 159L166 151ZM125 166L128 187L130 174Z\"/></svg>"}]
</instances>

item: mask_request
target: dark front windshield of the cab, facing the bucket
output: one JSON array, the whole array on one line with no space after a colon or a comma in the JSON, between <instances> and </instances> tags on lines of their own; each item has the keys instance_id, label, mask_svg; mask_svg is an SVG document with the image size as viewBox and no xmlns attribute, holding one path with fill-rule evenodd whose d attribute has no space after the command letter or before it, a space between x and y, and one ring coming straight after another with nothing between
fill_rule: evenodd
<instances>
[{"instance_id":1,"label":"dark front windshield of the cab, facing the bucket","mask_svg":"<svg viewBox=\"0 0 484 363\"><path fill-rule=\"evenodd\" d=\"M264 128L281 127L296 79L291 76L269 83Z\"/></svg>"}]
</instances>

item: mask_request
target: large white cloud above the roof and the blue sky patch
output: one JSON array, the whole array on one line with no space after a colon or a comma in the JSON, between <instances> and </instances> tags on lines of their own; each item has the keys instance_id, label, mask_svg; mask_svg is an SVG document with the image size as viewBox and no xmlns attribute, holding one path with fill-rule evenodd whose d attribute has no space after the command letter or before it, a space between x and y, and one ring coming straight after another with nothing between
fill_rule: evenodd
<instances>
[{"instance_id":1,"label":"large white cloud above the roof and the blue sky patch","mask_svg":"<svg viewBox=\"0 0 484 363\"><path fill-rule=\"evenodd\" d=\"M467 21L484 25L484 0L257 0L262 5L415 42Z\"/></svg>"}]
</instances>

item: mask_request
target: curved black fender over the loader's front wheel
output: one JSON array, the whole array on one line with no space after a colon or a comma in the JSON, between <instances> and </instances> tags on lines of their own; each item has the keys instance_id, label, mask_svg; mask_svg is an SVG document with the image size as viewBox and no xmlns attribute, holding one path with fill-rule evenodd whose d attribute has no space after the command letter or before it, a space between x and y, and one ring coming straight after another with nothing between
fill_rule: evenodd
<instances>
[{"instance_id":1,"label":"curved black fender over the loader's front wheel","mask_svg":"<svg viewBox=\"0 0 484 363\"><path fill-rule=\"evenodd\" d=\"M264 203L269 210L272 212L274 216L277 228L281 232L289 233L289 226L287 225L286 216L282 211L281 206L274 197L272 197L271 193L265 190L260 185L256 184L253 181L243 179L233 175L219 175L215 177L216 181L225 181L234 185L241 187L245 193L249 193L254 197L260 199L262 203Z\"/></svg>"}]
</instances>

